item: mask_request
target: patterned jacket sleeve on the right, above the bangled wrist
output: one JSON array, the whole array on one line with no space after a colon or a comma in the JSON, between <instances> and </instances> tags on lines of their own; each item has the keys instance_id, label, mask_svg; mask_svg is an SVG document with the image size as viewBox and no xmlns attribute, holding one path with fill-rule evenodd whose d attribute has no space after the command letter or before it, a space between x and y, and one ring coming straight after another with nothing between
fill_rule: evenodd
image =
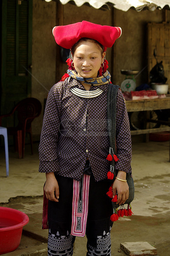
<instances>
[{"instance_id":1,"label":"patterned jacket sleeve on the right, above the bangled wrist","mask_svg":"<svg viewBox=\"0 0 170 256\"><path fill-rule=\"evenodd\" d=\"M119 159L116 162L116 169L131 173L132 142L130 125L125 99L120 90L118 90L116 101L116 147Z\"/></svg>"}]
</instances>

